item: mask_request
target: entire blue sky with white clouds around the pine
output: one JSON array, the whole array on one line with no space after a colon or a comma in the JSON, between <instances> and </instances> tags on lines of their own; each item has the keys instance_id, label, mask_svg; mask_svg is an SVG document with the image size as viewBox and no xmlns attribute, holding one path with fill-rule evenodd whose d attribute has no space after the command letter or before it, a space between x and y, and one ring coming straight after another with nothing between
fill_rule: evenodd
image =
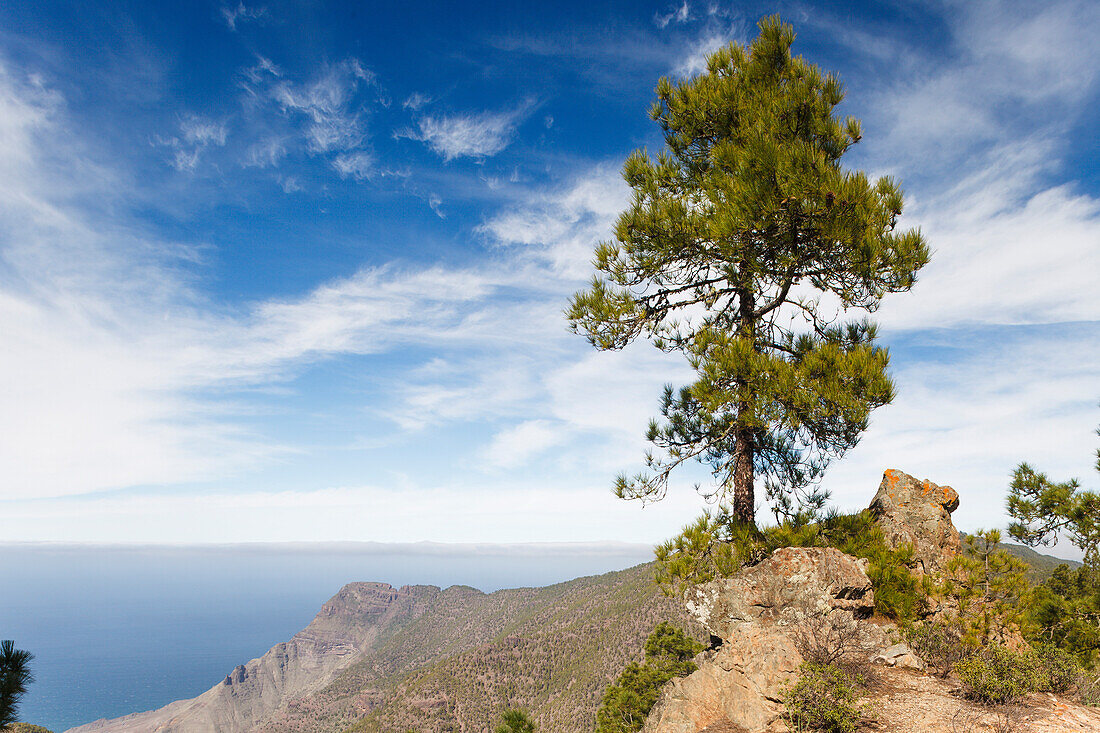
<instances>
[{"instance_id":1,"label":"entire blue sky with white clouds around the pine","mask_svg":"<svg viewBox=\"0 0 1100 733\"><path fill-rule=\"evenodd\" d=\"M1093 2L0 7L0 538L656 541L615 500L662 384L569 295L662 75L780 12L932 263L878 315L887 468L1001 525L1100 424Z\"/></svg>"}]
</instances>

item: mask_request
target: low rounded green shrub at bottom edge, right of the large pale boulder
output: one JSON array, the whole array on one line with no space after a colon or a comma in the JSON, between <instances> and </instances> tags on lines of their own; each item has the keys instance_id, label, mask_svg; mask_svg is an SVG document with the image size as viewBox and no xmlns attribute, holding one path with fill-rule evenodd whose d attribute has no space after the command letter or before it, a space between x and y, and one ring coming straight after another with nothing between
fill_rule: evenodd
<instances>
[{"instance_id":1,"label":"low rounded green shrub at bottom edge, right of the large pale boulder","mask_svg":"<svg viewBox=\"0 0 1100 733\"><path fill-rule=\"evenodd\" d=\"M858 702L858 685L834 665L803 663L799 681L783 694L783 705L792 730L823 733L853 733L859 730L868 708Z\"/></svg>"}]
</instances>

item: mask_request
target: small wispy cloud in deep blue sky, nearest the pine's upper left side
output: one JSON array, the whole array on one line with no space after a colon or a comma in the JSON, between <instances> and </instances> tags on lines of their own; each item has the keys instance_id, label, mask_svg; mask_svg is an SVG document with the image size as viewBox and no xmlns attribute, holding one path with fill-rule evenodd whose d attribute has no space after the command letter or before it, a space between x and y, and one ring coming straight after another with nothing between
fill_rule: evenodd
<instances>
[{"instance_id":1,"label":"small wispy cloud in deep blue sky, nearest the pine's upper left side","mask_svg":"<svg viewBox=\"0 0 1100 733\"><path fill-rule=\"evenodd\" d=\"M507 112L425 116L417 121L418 131L400 134L427 143L444 161L488 157L508 146L516 124L526 117L529 107L525 105Z\"/></svg>"}]
</instances>

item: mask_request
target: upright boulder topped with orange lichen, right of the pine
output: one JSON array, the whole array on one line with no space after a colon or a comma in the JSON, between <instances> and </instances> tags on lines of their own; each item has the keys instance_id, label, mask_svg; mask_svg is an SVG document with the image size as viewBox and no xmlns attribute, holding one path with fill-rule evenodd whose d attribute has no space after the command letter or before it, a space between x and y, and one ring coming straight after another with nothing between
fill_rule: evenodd
<instances>
[{"instance_id":1,"label":"upright boulder topped with orange lichen, right of the pine","mask_svg":"<svg viewBox=\"0 0 1100 733\"><path fill-rule=\"evenodd\" d=\"M959 495L950 486L890 469L868 507L891 547L912 544L917 570L943 570L959 554L959 533L952 524Z\"/></svg>"}]
</instances>

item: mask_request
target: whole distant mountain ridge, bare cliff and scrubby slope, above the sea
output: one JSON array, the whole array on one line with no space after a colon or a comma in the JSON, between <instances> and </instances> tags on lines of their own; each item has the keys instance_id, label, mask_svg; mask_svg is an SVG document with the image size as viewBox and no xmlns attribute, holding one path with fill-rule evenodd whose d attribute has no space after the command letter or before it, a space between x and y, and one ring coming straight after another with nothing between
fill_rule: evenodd
<instances>
[{"instance_id":1,"label":"whole distant mountain ridge, bare cliff and scrubby slope, above the sea","mask_svg":"<svg viewBox=\"0 0 1100 733\"><path fill-rule=\"evenodd\" d=\"M487 594L352 583L201 696L69 733L486 731L512 705L575 733L670 620L689 623L651 566Z\"/></svg>"}]
</instances>

